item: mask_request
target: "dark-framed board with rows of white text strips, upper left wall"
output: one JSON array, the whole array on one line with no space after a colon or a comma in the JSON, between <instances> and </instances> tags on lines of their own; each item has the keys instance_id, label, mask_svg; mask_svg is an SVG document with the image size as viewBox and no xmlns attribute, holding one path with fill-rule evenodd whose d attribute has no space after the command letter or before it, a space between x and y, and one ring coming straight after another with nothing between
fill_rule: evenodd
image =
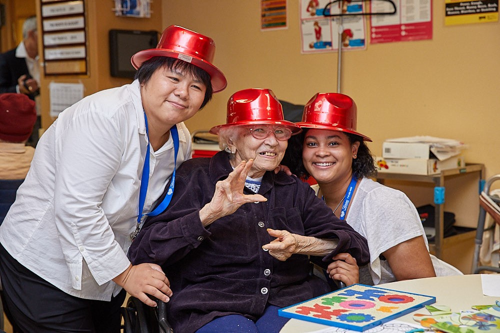
<instances>
[{"instance_id":1,"label":"dark-framed board with rows of white text strips, upper left wall","mask_svg":"<svg viewBox=\"0 0 500 333\"><path fill-rule=\"evenodd\" d=\"M40 0L45 76L87 75L84 0Z\"/></svg>"}]
</instances>

